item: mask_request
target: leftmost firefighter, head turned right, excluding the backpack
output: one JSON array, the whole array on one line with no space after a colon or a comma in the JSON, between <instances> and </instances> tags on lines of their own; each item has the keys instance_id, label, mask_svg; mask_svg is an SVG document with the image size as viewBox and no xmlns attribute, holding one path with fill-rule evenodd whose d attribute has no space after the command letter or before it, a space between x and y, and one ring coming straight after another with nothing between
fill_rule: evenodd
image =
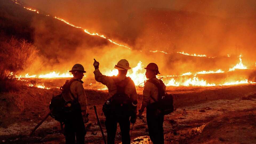
<instances>
[{"instance_id":1,"label":"leftmost firefighter, head turned right, excluding the backpack","mask_svg":"<svg viewBox=\"0 0 256 144\"><path fill-rule=\"evenodd\" d=\"M70 85L69 95L64 99L66 101L77 101L78 103L75 104L74 110L67 113L67 119L64 122L65 139L67 144L74 144L75 140L76 143L84 144L86 134L84 123L87 123L89 119L86 113L86 95L81 79L84 76L83 73L86 73L86 71L82 65L75 64L69 72L71 72L74 77L69 80L73 82Z\"/></svg>"}]
</instances>

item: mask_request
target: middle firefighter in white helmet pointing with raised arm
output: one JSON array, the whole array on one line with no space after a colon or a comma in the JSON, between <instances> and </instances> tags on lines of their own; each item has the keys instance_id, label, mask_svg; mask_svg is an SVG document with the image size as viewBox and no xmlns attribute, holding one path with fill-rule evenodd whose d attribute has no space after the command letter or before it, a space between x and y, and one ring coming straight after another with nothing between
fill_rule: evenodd
<instances>
[{"instance_id":1,"label":"middle firefighter in white helmet pointing with raised arm","mask_svg":"<svg viewBox=\"0 0 256 144\"><path fill-rule=\"evenodd\" d=\"M95 68L95 80L106 85L109 91L110 98L107 99L102 108L106 117L107 143L114 144L117 123L119 123L122 143L130 144L130 122L133 124L136 122L138 101L134 82L129 77L126 77L127 70L131 69L129 62L126 59L121 59L114 67L118 69L118 75L112 77L101 74L99 62L95 59L93 66ZM131 105L128 105L129 103Z\"/></svg>"}]
</instances>

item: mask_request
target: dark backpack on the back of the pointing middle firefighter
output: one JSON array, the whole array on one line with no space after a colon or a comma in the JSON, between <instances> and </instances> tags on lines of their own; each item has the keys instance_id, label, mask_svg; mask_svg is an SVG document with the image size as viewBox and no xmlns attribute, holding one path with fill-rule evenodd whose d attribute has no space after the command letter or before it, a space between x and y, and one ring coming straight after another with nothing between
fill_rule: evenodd
<instances>
[{"instance_id":1,"label":"dark backpack on the back of the pointing middle firefighter","mask_svg":"<svg viewBox=\"0 0 256 144\"><path fill-rule=\"evenodd\" d=\"M130 77L126 77L122 81L119 81L117 77L114 78L117 93L111 97L111 113L117 118L130 117L132 114L132 101L125 93L125 87L130 81Z\"/></svg>"}]
</instances>

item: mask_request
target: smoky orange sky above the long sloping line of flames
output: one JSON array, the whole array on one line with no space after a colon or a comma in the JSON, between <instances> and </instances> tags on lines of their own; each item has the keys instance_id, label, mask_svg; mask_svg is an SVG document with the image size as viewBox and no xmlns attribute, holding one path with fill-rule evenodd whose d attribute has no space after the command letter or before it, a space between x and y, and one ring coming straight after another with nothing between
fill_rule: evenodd
<instances>
[{"instance_id":1,"label":"smoky orange sky above the long sloping line of flames","mask_svg":"<svg viewBox=\"0 0 256 144\"><path fill-rule=\"evenodd\" d=\"M135 49L170 51L175 45L188 53L216 56L255 47L248 46L255 36L254 0L22 1Z\"/></svg>"}]
</instances>

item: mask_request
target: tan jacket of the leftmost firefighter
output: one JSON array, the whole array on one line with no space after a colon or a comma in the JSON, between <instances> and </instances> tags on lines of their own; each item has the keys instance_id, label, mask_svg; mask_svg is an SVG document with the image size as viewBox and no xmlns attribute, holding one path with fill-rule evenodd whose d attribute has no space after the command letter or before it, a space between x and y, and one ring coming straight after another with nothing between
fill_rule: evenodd
<instances>
[{"instance_id":1,"label":"tan jacket of the leftmost firefighter","mask_svg":"<svg viewBox=\"0 0 256 144\"><path fill-rule=\"evenodd\" d=\"M72 79L74 78L71 78L69 81L71 81ZM79 81L72 82L70 85L70 91L74 95L75 99L78 98L78 102L81 106L81 110L85 111L87 109L87 102L86 102L86 95L85 95L85 89L83 88L83 84ZM66 101L74 100L71 93L69 93L68 98L64 98Z\"/></svg>"}]
</instances>

